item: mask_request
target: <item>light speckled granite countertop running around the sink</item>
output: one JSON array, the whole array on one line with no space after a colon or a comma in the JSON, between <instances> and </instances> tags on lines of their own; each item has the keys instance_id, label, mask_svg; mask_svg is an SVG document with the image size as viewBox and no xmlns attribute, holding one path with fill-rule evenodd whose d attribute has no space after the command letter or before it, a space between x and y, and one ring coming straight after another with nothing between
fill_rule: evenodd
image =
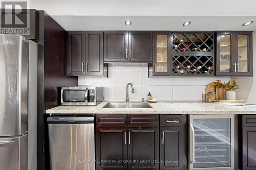
<instances>
[{"instance_id":1,"label":"light speckled granite countertop running around the sink","mask_svg":"<svg viewBox=\"0 0 256 170\"><path fill-rule=\"evenodd\" d=\"M117 102L118 103L118 102ZM152 108L104 108L97 106L58 106L47 114L256 114L255 106L232 106L232 103L168 102L148 103Z\"/></svg>"}]
</instances>

